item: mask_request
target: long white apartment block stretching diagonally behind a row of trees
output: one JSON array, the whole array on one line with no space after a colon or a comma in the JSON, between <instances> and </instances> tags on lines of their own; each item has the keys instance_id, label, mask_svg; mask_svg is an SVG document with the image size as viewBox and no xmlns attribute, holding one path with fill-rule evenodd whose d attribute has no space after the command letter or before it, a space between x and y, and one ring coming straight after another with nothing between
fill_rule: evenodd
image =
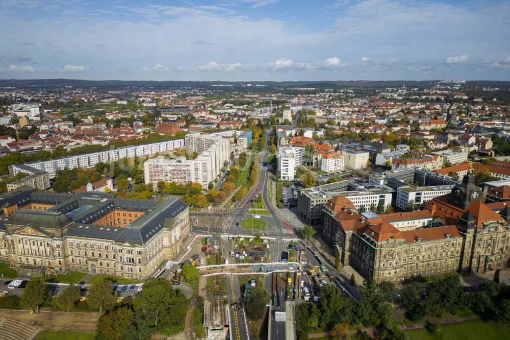
<instances>
[{"instance_id":1,"label":"long white apartment block stretching diagonally behind a row of trees","mask_svg":"<svg viewBox=\"0 0 510 340\"><path fill-rule=\"evenodd\" d=\"M176 148L184 147L184 139L172 139L162 142L148 143L142 145L133 145L131 147L122 147L112 150L91 152L88 154L66 156L62 158L47 159L36 162L23 163L21 165L28 165L33 168L45 171L49 174L49 178L55 178L55 173L58 169L73 169L76 167L93 167L98 162L110 163L118 161L122 158L133 158L135 156L145 157L154 155L159 152L166 152ZM16 175L22 171L16 165L9 166L9 174Z\"/></svg>"}]
</instances>

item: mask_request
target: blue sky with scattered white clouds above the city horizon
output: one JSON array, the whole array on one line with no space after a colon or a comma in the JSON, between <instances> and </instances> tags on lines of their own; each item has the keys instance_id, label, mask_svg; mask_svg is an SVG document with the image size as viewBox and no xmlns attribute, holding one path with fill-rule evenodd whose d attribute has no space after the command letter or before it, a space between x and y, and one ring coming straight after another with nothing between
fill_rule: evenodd
<instances>
[{"instance_id":1,"label":"blue sky with scattered white clouds above the city horizon","mask_svg":"<svg viewBox=\"0 0 510 340\"><path fill-rule=\"evenodd\" d=\"M0 32L0 79L510 81L508 0L0 0Z\"/></svg>"}]
</instances>

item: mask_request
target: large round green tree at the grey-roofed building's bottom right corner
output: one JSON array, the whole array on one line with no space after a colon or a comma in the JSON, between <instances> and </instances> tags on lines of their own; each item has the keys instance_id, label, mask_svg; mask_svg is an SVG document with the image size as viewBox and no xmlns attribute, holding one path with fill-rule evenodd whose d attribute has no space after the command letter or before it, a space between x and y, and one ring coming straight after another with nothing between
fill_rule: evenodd
<instances>
[{"instance_id":1,"label":"large round green tree at the grey-roofed building's bottom right corner","mask_svg":"<svg viewBox=\"0 0 510 340\"><path fill-rule=\"evenodd\" d=\"M139 329L154 333L167 327L182 327L188 311L188 300L180 289L167 280L150 279L143 291L133 299Z\"/></svg>"}]
</instances>

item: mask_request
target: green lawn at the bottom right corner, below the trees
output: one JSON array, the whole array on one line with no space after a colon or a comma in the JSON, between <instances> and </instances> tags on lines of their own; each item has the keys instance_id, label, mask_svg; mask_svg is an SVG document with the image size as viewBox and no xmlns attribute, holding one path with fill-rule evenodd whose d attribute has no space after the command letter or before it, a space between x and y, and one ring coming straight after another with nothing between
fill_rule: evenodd
<instances>
[{"instance_id":1,"label":"green lawn at the bottom right corner, below the trees","mask_svg":"<svg viewBox=\"0 0 510 340\"><path fill-rule=\"evenodd\" d=\"M510 339L508 329L495 321L474 320L460 324L442 325L442 336L432 336L425 329L408 330L411 340L448 339L448 340L477 340L477 339Z\"/></svg>"}]
</instances>

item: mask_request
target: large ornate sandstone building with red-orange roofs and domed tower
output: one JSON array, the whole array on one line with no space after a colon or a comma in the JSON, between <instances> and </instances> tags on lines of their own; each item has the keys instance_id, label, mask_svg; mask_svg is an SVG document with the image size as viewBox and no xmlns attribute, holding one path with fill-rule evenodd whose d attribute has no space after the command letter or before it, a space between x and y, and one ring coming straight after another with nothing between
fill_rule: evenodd
<instances>
[{"instance_id":1,"label":"large ornate sandstone building with red-orange roofs and domed tower","mask_svg":"<svg viewBox=\"0 0 510 340\"><path fill-rule=\"evenodd\" d=\"M491 271L503 268L510 255L510 207L481 203L472 169L451 193L419 211L367 219L338 198L323 211L323 237L341 262L376 282Z\"/></svg>"}]
</instances>

